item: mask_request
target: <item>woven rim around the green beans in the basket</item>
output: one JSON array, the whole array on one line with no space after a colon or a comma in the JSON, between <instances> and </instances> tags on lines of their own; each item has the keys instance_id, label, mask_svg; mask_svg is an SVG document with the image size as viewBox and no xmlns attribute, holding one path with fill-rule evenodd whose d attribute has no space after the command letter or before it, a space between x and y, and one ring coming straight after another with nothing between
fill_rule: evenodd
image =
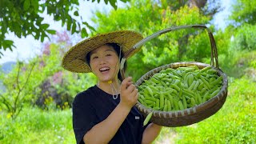
<instances>
[{"instance_id":1,"label":"woven rim around the green beans in the basket","mask_svg":"<svg viewBox=\"0 0 256 144\"><path fill-rule=\"evenodd\" d=\"M138 81L135 83L136 86L139 86L146 78L150 78L149 75L154 74L160 70L165 70L166 68L178 68L180 66L210 66L209 64L202 63L202 62L174 62L163 66L158 66L157 68L154 68L153 70L148 71L146 74L143 74L141 78L138 79ZM227 77L226 74L223 73L223 71L220 68L216 68L215 66L211 66L214 68L214 70L217 70L218 74L223 76L222 80L222 89L216 94L213 98L210 98L208 101L200 103L197 106L193 106L190 108L187 108L185 110L171 110L171 111L161 111L161 110L153 110L152 108L147 108L146 106L143 106L142 103L137 102L135 106L138 107L139 110L144 110L145 114L149 114L153 111L153 116L157 115L164 115L166 118L181 118L186 115L190 114L196 114L203 110L206 110L207 108L210 108L210 106L213 106L216 102L220 101L222 98L226 98L227 95Z\"/></svg>"}]
</instances>

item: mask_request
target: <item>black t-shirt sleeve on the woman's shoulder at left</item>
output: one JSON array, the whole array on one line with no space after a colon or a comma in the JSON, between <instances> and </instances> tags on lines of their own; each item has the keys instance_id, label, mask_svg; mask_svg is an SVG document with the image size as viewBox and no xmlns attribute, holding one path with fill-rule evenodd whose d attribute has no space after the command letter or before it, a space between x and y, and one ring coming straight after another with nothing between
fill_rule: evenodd
<instances>
[{"instance_id":1,"label":"black t-shirt sleeve on the woman's shoulder at left","mask_svg":"<svg viewBox=\"0 0 256 144\"><path fill-rule=\"evenodd\" d=\"M77 143L84 143L83 137L94 125L97 118L90 102L85 99L84 94L78 94L72 104L73 129Z\"/></svg>"}]
</instances>

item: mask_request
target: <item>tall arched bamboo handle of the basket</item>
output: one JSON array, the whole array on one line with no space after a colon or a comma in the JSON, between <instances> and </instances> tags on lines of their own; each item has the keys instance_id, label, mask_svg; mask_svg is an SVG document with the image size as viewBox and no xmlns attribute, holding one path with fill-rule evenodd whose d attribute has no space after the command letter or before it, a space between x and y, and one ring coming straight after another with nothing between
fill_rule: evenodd
<instances>
[{"instance_id":1,"label":"tall arched bamboo handle of the basket","mask_svg":"<svg viewBox=\"0 0 256 144\"><path fill-rule=\"evenodd\" d=\"M210 38L210 46L211 46L210 65L219 68L219 66L218 66L218 51L217 51L216 42L214 39L214 35L212 34L212 32L210 31L210 29L208 27L206 27L204 25L176 26L176 27L170 27L170 28L167 28L164 30L159 30L158 32L156 32L154 34L151 34L149 37L142 39L140 42L137 42L130 50L128 50L126 52L126 54L124 54L124 57L121 60L120 72L121 72L122 80L125 78L125 71L123 68L124 68L124 64L126 62L126 58L128 58L134 50L138 49L139 47L143 46L146 42L150 41L153 38L158 37L159 35L166 34L170 31L181 30L181 29L186 29L186 28L196 28L196 29L206 29L207 30L208 36Z\"/></svg>"}]
</instances>

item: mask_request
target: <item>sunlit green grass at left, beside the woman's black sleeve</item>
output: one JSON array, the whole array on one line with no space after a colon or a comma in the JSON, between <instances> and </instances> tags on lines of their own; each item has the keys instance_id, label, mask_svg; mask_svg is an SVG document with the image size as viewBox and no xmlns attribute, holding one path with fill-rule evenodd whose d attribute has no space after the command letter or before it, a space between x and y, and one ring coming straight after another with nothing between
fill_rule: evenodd
<instances>
[{"instance_id":1,"label":"sunlit green grass at left, beside the woman's black sleeve","mask_svg":"<svg viewBox=\"0 0 256 144\"><path fill-rule=\"evenodd\" d=\"M75 143L70 110L25 108L15 120L0 115L0 143Z\"/></svg>"}]
</instances>

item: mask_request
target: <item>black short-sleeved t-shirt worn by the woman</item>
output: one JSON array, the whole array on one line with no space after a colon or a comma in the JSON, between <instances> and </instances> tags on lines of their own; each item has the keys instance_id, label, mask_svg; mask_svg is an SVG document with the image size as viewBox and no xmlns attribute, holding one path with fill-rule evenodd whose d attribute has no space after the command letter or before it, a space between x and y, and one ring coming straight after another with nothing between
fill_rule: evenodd
<instances>
[{"instance_id":1,"label":"black short-sleeved t-shirt worn by the woman","mask_svg":"<svg viewBox=\"0 0 256 144\"><path fill-rule=\"evenodd\" d=\"M114 110L120 97L114 99L111 94L92 86L74 98L73 102L73 129L77 143L84 143L82 138L94 125L106 119ZM134 106L122 123L114 138L109 143L136 144L142 142L144 117ZM106 131L107 133L107 131ZM100 138L101 136L98 135Z\"/></svg>"}]
</instances>

